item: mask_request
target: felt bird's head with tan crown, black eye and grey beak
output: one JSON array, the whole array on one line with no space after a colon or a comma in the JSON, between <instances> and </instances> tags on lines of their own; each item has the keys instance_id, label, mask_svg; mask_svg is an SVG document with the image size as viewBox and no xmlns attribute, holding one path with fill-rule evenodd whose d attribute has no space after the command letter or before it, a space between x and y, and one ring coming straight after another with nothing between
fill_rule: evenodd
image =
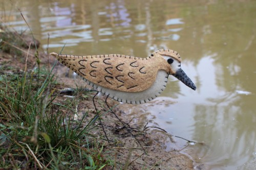
<instances>
[{"instance_id":1,"label":"felt bird's head with tan crown, black eye and grey beak","mask_svg":"<svg viewBox=\"0 0 256 170\"><path fill-rule=\"evenodd\" d=\"M181 69L181 58L177 52L173 50L159 50L154 53L161 55L164 58L165 65L167 65L168 67L169 75L176 77L186 86L190 87L193 90L196 90L197 87L195 86L195 84ZM155 55L154 53L153 55Z\"/></svg>"}]
</instances>

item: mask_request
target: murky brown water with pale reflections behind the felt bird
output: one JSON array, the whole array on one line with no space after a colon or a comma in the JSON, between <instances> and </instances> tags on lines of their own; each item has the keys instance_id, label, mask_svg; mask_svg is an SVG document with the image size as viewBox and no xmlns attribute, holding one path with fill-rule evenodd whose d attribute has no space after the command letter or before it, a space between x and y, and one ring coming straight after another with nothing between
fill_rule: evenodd
<instances>
[{"instance_id":1,"label":"murky brown water with pale reflections behind the felt bird","mask_svg":"<svg viewBox=\"0 0 256 170\"><path fill-rule=\"evenodd\" d=\"M19 8L51 52L64 45L62 54L75 55L178 51L197 90L170 76L162 97L130 111L139 110L134 116L143 117L141 124L202 142L182 150L198 168L256 167L255 1L0 2L2 20L24 31ZM174 139L180 148L186 144Z\"/></svg>"}]
</instances>

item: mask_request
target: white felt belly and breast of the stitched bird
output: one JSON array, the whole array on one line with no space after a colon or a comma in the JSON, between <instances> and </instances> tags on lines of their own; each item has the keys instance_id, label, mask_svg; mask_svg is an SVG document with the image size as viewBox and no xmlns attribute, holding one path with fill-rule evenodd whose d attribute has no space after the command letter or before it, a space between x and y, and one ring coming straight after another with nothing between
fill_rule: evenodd
<instances>
[{"instance_id":1,"label":"white felt belly and breast of the stitched bird","mask_svg":"<svg viewBox=\"0 0 256 170\"><path fill-rule=\"evenodd\" d=\"M166 87L168 79L168 74L164 70L158 70L156 81L153 85L143 91L139 92L125 92L108 89L99 85L96 85L83 78L89 85L93 86L97 91L102 92L103 94L109 96L110 98L118 101L129 104L141 104L149 102L155 99ZM143 82L147 83L147 82Z\"/></svg>"}]
</instances>

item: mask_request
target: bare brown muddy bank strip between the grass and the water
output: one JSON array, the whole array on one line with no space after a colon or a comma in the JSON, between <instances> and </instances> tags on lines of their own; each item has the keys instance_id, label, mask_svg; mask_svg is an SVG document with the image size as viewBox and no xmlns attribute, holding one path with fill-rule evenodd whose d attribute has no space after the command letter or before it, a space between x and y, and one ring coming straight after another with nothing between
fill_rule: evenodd
<instances>
[{"instance_id":1,"label":"bare brown muddy bank strip between the grass and the water","mask_svg":"<svg viewBox=\"0 0 256 170\"><path fill-rule=\"evenodd\" d=\"M26 38L26 41L31 41ZM23 48L23 57L17 57L13 54L0 52L0 66L4 69L4 74L18 74L25 68L26 56L27 69L31 70L36 67L36 58L34 57L35 50L30 50L27 54L28 49ZM39 58L41 65L52 66L55 62L55 58L49 56L46 52L39 52ZM9 69L11 67L11 69ZM58 82L61 85L58 90L65 88L76 88L76 83L84 88L89 88L86 83L78 79L78 82L74 82L73 79L68 78L71 72L67 71L65 66L60 63L54 68L55 75L58 75ZM66 93L67 92L67 93ZM72 93L69 90L63 92L55 102L66 100L72 97ZM80 101L78 105L78 115L75 115L75 119L80 119L84 111L88 111L91 116L96 114L94 105L92 102L92 96L96 92L92 92L85 100ZM117 105L113 111L115 114L125 123L129 123L126 127L122 128L123 124L116 118L116 116L107 112L109 109L106 107L105 96L99 95L96 97L96 106L98 110L105 110L101 117L102 125L105 129L107 140L102 140L104 143L104 149L102 155L104 157L112 157L115 162L115 169L194 169L193 161L186 155L177 152L177 149L173 148L172 151L165 151L165 141L172 141L172 137L161 129L151 129L145 127L138 127L133 121L130 121L130 117L125 114L122 110L122 105L118 102L108 99L110 107ZM132 106L132 105L131 105ZM130 107L130 106L126 106ZM94 134L104 136L101 126L93 130ZM108 167L106 168L108 169Z\"/></svg>"}]
</instances>

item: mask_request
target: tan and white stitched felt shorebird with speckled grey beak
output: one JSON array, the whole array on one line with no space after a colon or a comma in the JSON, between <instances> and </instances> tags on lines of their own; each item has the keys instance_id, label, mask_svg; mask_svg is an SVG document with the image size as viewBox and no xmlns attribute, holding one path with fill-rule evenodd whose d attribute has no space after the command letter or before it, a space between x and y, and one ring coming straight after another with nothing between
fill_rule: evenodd
<instances>
[{"instance_id":1,"label":"tan and white stitched felt shorebird with speckled grey beak","mask_svg":"<svg viewBox=\"0 0 256 170\"><path fill-rule=\"evenodd\" d=\"M120 54L51 55L97 91L119 102L142 104L155 99L165 89L169 75L196 90L181 69L180 55L173 50L158 50L147 58Z\"/></svg>"}]
</instances>

